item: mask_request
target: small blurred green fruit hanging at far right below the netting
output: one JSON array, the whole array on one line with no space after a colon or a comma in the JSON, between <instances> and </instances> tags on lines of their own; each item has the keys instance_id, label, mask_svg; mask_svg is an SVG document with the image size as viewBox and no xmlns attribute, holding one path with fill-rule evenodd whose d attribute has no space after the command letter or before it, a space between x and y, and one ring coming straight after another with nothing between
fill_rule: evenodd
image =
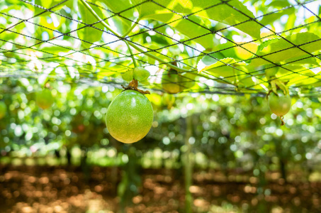
<instances>
[{"instance_id":1,"label":"small blurred green fruit hanging at far right below the netting","mask_svg":"<svg viewBox=\"0 0 321 213\"><path fill-rule=\"evenodd\" d=\"M282 91L278 92L278 95L271 92L269 95L269 107L277 116L284 116L291 109L290 95L285 95Z\"/></svg>"}]
</instances>

